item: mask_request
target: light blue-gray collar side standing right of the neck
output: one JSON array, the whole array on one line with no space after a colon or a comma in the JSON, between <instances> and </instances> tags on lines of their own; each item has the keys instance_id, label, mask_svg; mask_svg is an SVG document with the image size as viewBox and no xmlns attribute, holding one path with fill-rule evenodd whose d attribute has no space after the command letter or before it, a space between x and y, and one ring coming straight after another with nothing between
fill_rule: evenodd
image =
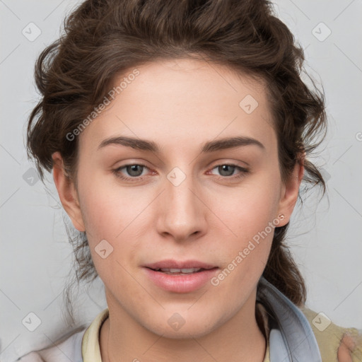
<instances>
[{"instance_id":1,"label":"light blue-gray collar side standing right of the neck","mask_svg":"<svg viewBox=\"0 0 362 362\"><path fill-rule=\"evenodd\" d=\"M257 287L257 302L269 315L270 362L322 362L305 315L263 276Z\"/></svg>"}]
</instances>

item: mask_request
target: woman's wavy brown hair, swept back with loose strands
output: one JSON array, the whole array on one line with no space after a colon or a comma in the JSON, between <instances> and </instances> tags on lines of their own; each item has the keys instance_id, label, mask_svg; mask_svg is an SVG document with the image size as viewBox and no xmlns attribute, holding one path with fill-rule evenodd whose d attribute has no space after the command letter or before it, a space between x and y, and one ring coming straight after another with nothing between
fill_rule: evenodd
<instances>
[{"instance_id":1,"label":"woman's wavy brown hair, swept back with loose strands","mask_svg":"<svg viewBox=\"0 0 362 362\"><path fill-rule=\"evenodd\" d=\"M265 81L284 180L325 136L324 95L300 78L303 49L270 1L87 0L66 18L64 30L35 65L42 98L30 115L27 146L42 180L59 151L76 182L78 141L66 135L102 102L115 76L157 59L204 59ZM304 166L306 184L325 192L315 165L305 159ZM275 229L263 275L301 305L305 284L285 244L287 228ZM95 279L86 233L69 236L77 281Z\"/></svg>"}]
</instances>

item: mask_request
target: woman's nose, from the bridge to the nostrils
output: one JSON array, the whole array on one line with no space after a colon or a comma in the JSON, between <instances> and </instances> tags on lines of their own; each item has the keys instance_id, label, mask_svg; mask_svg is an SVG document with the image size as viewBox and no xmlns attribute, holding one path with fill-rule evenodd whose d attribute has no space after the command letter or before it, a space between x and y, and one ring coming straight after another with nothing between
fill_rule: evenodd
<instances>
[{"instance_id":1,"label":"woman's nose, from the bridge to the nostrils","mask_svg":"<svg viewBox=\"0 0 362 362\"><path fill-rule=\"evenodd\" d=\"M207 207L202 200L201 187L197 187L197 180L193 180L191 175L187 175L180 184L166 177L165 189L158 203L156 226L160 235L177 242L187 242L206 233Z\"/></svg>"}]
</instances>

